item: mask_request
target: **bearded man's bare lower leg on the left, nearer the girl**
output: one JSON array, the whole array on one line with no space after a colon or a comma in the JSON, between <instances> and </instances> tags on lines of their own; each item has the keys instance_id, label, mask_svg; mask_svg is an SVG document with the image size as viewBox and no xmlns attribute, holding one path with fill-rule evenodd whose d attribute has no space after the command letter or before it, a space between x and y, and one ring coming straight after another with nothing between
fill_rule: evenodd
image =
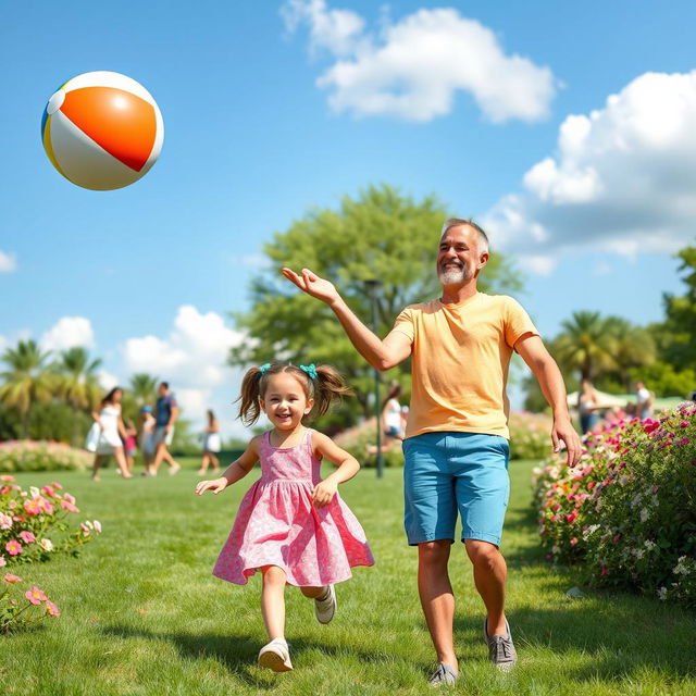
<instances>
[{"instance_id":1,"label":"bearded man's bare lower leg on the left, nearer the girl","mask_svg":"<svg viewBox=\"0 0 696 696\"><path fill-rule=\"evenodd\" d=\"M457 671L452 635L455 594L447 573L450 549L450 539L418 545L418 592L437 661Z\"/></svg>"}]
</instances>

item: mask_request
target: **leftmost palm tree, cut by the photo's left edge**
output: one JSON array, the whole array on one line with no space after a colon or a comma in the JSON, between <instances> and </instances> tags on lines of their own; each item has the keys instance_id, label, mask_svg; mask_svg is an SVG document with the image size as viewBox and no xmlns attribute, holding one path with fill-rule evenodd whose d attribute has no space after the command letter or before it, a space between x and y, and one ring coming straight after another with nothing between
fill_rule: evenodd
<instances>
[{"instance_id":1,"label":"leftmost palm tree, cut by the photo's left edge","mask_svg":"<svg viewBox=\"0 0 696 696\"><path fill-rule=\"evenodd\" d=\"M4 384L0 386L0 401L18 411L22 419L22 436L29 435L32 406L50 401L55 389L55 378L48 370L46 361L50 351L44 352L33 340L20 340L16 348L8 348L2 361L9 370L0 373Z\"/></svg>"}]
</instances>

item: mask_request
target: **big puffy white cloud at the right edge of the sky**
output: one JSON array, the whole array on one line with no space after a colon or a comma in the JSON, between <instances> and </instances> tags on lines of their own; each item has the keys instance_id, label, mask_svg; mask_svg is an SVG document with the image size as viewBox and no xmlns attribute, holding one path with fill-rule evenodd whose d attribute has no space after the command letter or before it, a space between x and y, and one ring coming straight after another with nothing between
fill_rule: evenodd
<instances>
[{"instance_id":1,"label":"big puffy white cloud at the right edge of the sky","mask_svg":"<svg viewBox=\"0 0 696 696\"><path fill-rule=\"evenodd\" d=\"M646 73L602 109L568 116L557 151L482 220L532 257L592 247L634 257L694 241L696 71Z\"/></svg>"}]
</instances>

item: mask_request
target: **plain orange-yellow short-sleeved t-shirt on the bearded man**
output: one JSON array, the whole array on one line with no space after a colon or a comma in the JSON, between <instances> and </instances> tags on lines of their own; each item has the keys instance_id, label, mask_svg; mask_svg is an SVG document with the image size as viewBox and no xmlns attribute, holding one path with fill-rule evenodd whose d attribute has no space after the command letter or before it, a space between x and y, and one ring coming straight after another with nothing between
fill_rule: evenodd
<instances>
[{"instance_id":1,"label":"plain orange-yellow short-sleeved t-shirt on the bearded man","mask_svg":"<svg viewBox=\"0 0 696 696\"><path fill-rule=\"evenodd\" d=\"M394 330L411 340L406 437L437 431L509 438L506 394L512 347L538 332L517 300L476 293L459 304L407 307Z\"/></svg>"}]
</instances>

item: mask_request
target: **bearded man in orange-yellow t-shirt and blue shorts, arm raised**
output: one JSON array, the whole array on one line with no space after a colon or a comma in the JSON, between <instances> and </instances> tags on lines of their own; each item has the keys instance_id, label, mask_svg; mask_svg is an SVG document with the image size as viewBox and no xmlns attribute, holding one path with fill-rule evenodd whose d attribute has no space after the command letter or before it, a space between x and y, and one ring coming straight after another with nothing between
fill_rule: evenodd
<instances>
[{"instance_id":1,"label":"bearded man in orange-yellow t-shirt and blue shorts, arm raised","mask_svg":"<svg viewBox=\"0 0 696 696\"><path fill-rule=\"evenodd\" d=\"M452 623L455 597L447 564L457 513L486 607L489 659L510 669L517 654L505 617L507 568L498 546L508 502L506 395L512 350L522 356L554 409L551 440L580 458L580 438L568 413L560 371L526 312L510 297L478 293L488 240L470 220L451 219L437 253L439 299L406 308L384 340L348 308L336 288L308 269L283 274L327 303L358 351L377 370L412 358L412 395L403 452L405 526L419 551L418 588L439 662L433 686L458 678Z\"/></svg>"}]
</instances>

